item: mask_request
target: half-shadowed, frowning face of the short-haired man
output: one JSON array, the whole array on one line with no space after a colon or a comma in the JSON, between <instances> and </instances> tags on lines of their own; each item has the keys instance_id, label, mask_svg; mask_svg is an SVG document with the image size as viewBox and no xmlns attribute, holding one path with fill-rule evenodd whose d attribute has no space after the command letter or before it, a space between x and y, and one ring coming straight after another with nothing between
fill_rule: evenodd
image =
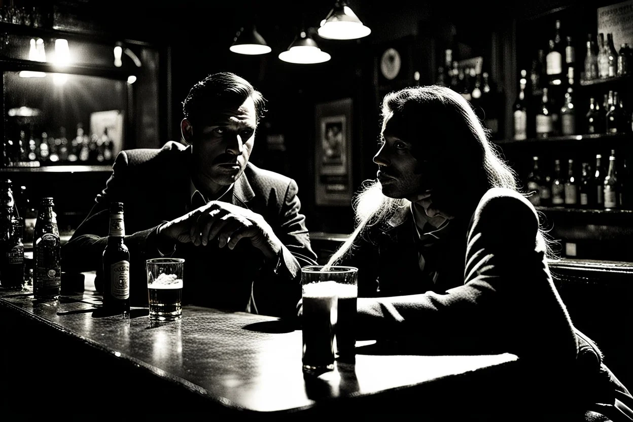
<instances>
[{"instance_id":1,"label":"half-shadowed, frowning face of the short-haired man","mask_svg":"<svg viewBox=\"0 0 633 422\"><path fill-rule=\"evenodd\" d=\"M192 156L199 182L211 192L234 183L251 156L257 126L255 104L249 97L237 109L207 116L193 128Z\"/></svg>"}]
</instances>

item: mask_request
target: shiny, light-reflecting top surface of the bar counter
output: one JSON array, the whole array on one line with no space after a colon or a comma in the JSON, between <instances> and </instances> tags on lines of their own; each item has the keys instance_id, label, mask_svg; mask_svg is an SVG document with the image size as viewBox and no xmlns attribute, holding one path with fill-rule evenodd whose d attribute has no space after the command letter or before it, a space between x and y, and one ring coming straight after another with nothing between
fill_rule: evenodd
<instances>
[{"instance_id":1,"label":"shiny, light-reflecting top surface of the bar counter","mask_svg":"<svg viewBox=\"0 0 633 422\"><path fill-rule=\"evenodd\" d=\"M149 323L146 308L133 308L129 320L101 317L101 298L90 281L88 275L83 294L53 302L35 302L29 287L23 292L0 290L0 316L34 321L57 333L60 345L74 342L96 351L96 363L113 359L112 368L163 380L196 397L196 406L208 402L210 408L226 411L290 415L337 407L403 410L423 404L430 412L441 406L438 398L451 397L455 388L472 390L473 402L479 400L482 380L498 378L491 385L505 388L518 362L513 354L389 354L375 342L358 342L355 363L337 363L332 372L304 376L301 331L284 321L197 306L185 306L180 321L158 325ZM421 401L414 401L418 396Z\"/></svg>"}]
</instances>

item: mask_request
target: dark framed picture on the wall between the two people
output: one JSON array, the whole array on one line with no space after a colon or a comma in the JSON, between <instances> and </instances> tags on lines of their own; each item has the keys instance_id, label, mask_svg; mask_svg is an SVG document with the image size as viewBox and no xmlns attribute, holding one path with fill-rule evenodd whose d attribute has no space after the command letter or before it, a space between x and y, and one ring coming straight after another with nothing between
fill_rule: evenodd
<instances>
[{"instance_id":1,"label":"dark framed picture on the wall between the two people","mask_svg":"<svg viewBox=\"0 0 633 422\"><path fill-rule=\"evenodd\" d=\"M315 195L318 206L351 206L352 99L315 107Z\"/></svg>"}]
</instances>

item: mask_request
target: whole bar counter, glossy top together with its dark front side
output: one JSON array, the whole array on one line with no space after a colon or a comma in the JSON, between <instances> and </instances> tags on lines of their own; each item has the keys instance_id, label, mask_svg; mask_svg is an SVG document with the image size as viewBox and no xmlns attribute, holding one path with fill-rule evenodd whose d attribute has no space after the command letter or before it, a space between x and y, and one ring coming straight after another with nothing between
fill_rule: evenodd
<instances>
[{"instance_id":1,"label":"whole bar counter, glossy top together with its dark front side","mask_svg":"<svg viewBox=\"0 0 633 422\"><path fill-rule=\"evenodd\" d=\"M391 354L358 342L355 364L304 376L301 331L277 318L185 306L182 320L150 325L146 308L128 320L99 316L89 281L83 294L53 302L35 302L30 289L0 291L3 412L432 418L494 416L519 396L534 399L517 394L526 384L513 354Z\"/></svg>"}]
</instances>

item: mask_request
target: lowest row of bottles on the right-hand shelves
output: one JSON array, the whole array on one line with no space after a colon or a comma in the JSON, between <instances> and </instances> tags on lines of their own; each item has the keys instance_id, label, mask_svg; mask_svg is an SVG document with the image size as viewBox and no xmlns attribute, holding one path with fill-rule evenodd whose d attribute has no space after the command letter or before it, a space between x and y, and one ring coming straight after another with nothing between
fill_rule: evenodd
<instances>
[{"instance_id":1,"label":"lowest row of bottles on the right-hand shelves","mask_svg":"<svg viewBox=\"0 0 633 422\"><path fill-rule=\"evenodd\" d=\"M611 150L608 170L603 166L601 154L594 163L583 162L581 170L573 159L565 163L554 161L554 172L549 175L539 165L539 157L532 158L532 171L526 185L530 202L534 206L560 206L590 209L633 209L632 173L630 161L618 162L615 150Z\"/></svg>"}]
</instances>

